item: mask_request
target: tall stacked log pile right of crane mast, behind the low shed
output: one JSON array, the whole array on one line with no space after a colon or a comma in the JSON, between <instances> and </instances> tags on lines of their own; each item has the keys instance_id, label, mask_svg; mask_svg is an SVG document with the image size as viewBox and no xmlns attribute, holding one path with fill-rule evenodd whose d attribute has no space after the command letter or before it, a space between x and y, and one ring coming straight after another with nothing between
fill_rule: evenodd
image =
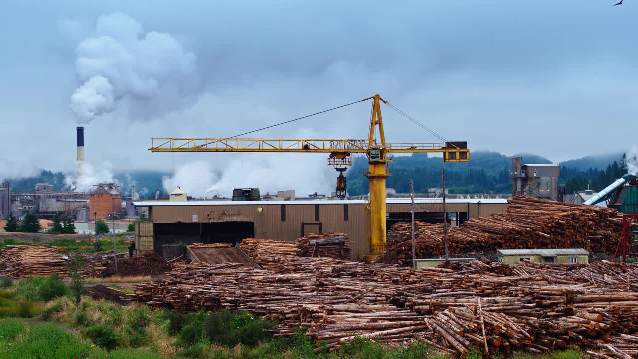
<instances>
[{"instance_id":1,"label":"tall stacked log pile right of crane mast, behind the low shed","mask_svg":"<svg viewBox=\"0 0 638 359\"><path fill-rule=\"evenodd\" d=\"M448 231L450 254L486 253L512 248L585 248L614 254L622 230L616 210L531 197L509 201L507 213L470 219ZM417 223L417 258L443 255L443 225ZM412 259L411 226L388 231L388 257L401 265Z\"/></svg>"}]
</instances>

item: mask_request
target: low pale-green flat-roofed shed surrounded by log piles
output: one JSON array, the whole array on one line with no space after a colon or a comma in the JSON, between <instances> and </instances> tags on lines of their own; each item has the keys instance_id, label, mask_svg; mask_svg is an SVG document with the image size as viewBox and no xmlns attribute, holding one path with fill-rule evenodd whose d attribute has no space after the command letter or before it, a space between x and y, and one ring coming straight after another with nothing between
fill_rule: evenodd
<instances>
[{"instance_id":1,"label":"low pale-green flat-roofed shed surrounded by log piles","mask_svg":"<svg viewBox=\"0 0 638 359\"><path fill-rule=\"evenodd\" d=\"M590 254L582 248L499 249L498 261L514 266L521 261L535 263L590 263Z\"/></svg>"}]
</instances>

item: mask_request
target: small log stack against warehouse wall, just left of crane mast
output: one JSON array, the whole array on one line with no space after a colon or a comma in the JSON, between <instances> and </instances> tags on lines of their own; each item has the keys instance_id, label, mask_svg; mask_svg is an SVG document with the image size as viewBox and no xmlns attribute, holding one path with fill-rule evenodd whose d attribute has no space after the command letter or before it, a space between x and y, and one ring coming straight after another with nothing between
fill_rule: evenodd
<instances>
[{"instance_id":1,"label":"small log stack against warehouse wall, just left of crane mast","mask_svg":"<svg viewBox=\"0 0 638 359\"><path fill-rule=\"evenodd\" d=\"M344 233L306 234L295 243L301 257L350 258L350 243Z\"/></svg>"}]
</instances>

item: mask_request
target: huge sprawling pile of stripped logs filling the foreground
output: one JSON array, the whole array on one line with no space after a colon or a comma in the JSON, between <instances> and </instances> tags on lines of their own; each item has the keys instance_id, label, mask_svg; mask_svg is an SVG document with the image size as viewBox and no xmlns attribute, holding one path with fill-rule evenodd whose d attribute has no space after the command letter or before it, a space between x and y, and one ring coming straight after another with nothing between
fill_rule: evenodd
<instances>
[{"instance_id":1,"label":"huge sprawling pile of stripped logs filling the foreground","mask_svg":"<svg viewBox=\"0 0 638 359\"><path fill-rule=\"evenodd\" d=\"M412 270L297 259L265 270L176 266L168 279L138 284L131 297L186 311L249 310L278 320L278 336L305 327L318 350L360 336L420 340L450 357L471 348L492 354L582 348L597 358L638 353L636 264L473 261Z\"/></svg>"}]
</instances>

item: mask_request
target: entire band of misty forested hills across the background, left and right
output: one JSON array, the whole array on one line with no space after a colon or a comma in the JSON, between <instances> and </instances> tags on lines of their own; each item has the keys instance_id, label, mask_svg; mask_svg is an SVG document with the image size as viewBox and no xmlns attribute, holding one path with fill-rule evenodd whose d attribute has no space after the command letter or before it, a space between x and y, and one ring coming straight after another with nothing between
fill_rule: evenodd
<instances>
[{"instance_id":1,"label":"entire band of misty forested hills across the background, left and right","mask_svg":"<svg viewBox=\"0 0 638 359\"><path fill-rule=\"evenodd\" d=\"M523 157L523 163L549 164L548 158L533 154L515 155ZM396 188L399 193L410 192L410 178L414 179L415 192L424 193L428 188L441 186L441 157L428 157L426 153L415 153L412 156L396 156L390 164L392 175L387 179L388 188ZM450 193L456 194L509 194L511 181L509 170L512 157L493 151L473 151L470 162L445 164L445 185ZM575 190L601 190L625 174L622 154L590 156L561 162L560 182L567 186L567 193ZM367 159L360 155L355 157L354 165L346 172L348 177L348 193L364 195L368 191L368 181L363 175L367 169ZM162 195L162 177L170 173L163 171L128 171L115 174L115 179L122 185L124 195L130 195L130 186L135 185L136 192L142 199L152 199L156 190ZM2 174L0 173L0 176ZM1 180L1 178L0 178ZM51 183L56 189L64 188L64 173L42 170L38 176L12 179L14 191L33 190L36 183ZM275 188L277 190L278 188ZM230 194L228 194L230 195Z\"/></svg>"}]
</instances>

